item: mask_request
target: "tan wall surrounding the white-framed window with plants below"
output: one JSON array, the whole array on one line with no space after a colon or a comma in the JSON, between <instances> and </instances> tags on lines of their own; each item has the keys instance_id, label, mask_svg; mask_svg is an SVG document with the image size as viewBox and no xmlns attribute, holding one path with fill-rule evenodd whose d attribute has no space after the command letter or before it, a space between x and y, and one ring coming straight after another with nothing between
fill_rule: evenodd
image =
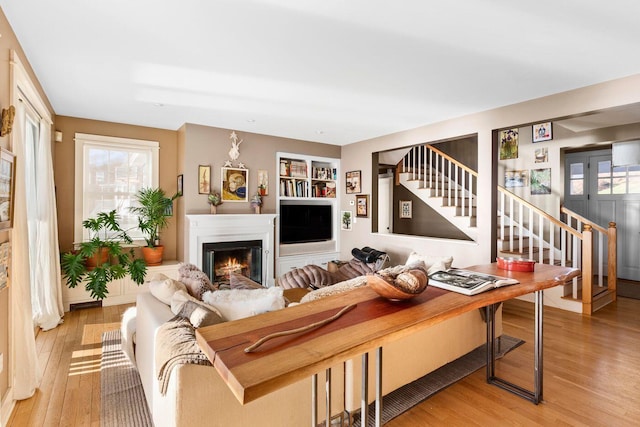
<instances>
[{"instance_id":1,"label":"tan wall surrounding the white-framed window with plants below","mask_svg":"<svg viewBox=\"0 0 640 427\"><path fill-rule=\"evenodd\" d=\"M56 118L56 130L62 132L62 142L56 142L54 145L58 230L62 252L73 248L74 137L76 133L158 141L160 143L160 188L164 189L168 195L176 192L177 132L66 116ZM160 238L165 246L165 259L176 258L176 230L174 218L169 221L169 227L161 233Z\"/></svg>"}]
</instances>

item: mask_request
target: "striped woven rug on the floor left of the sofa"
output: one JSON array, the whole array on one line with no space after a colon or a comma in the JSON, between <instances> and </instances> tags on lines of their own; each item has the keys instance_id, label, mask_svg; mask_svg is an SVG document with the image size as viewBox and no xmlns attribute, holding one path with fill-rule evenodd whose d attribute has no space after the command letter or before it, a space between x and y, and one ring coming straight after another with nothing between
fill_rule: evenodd
<instances>
[{"instance_id":1,"label":"striped woven rug on the floor left of the sofa","mask_svg":"<svg viewBox=\"0 0 640 427\"><path fill-rule=\"evenodd\" d=\"M120 330L102 334L100 392L101 426L153 426L138 369L122 352Z\"/></svg>"}]
</instances>

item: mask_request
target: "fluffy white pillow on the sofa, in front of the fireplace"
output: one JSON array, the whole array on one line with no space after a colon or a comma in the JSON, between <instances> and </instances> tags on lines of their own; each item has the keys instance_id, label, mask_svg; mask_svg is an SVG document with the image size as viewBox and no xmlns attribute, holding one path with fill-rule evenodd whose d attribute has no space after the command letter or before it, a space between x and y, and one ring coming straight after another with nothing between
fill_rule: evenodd
<instances>
[{"instance_id":1,"label":"fluffy white pillow on the sofa, in front of the fireplace","mask_svg":"<svg viewBox=\"0 0 640 427\"><path fill-rule=\"evenodd\" d=\"M243 319L284 308L283 289L230 289L207 291L202 300L214 306L225 320Z\"/></svg>"}]
</instances>

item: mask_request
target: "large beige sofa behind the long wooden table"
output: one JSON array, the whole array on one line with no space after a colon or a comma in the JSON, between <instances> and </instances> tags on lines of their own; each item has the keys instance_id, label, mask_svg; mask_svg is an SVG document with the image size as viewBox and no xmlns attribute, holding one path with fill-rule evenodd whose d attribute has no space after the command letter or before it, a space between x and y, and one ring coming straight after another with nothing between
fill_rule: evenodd
<instances>
[{"instance_id":1,"label":"large beige sofa behind the long wooden table","mask_svg":"<svg viewBox=\"0 0 640 427\"><path fill-rule=\"evenodd\" d=\"M331 296L326 289L313 292L324 292L328 295L326 298L340 298L339 295ZM305 304L314 303L313 298L307 300L309 302ZM138 295L136 311L135 362L156 426L280 427L309 424L310 378L241 405L212 366L182 364L172 370L166 393L161 393L157 379L156 339L161 327L175 315L166 301L161 301L150 292ZM500 313L496 320L499 334ZM483 344L485 339L482 316L479 311L473 311L390 343L383 348L383 394L468 353ZM359 411L360 361L358 357L332 368L332 418L344 414L350 416ZM373 372L370 375L373 376ZM321 414L321 421L325 414L324 372L319 373L318 377L318 413ZM373 377L369 384L372 401Z\"/></svg>"}]
</instances>

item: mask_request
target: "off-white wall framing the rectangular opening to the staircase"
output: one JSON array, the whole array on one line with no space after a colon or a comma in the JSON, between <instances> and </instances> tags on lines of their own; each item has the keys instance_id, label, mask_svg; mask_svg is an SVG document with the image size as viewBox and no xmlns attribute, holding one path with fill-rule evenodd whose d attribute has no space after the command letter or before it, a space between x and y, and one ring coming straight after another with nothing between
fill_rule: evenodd
<instances>
[{"instance_id":1,"label":"off-white wall framing the rectangular opening to the staircase","mask_svg":"<svg viewBox=\"0 0 640 427\"><path fill-rule=\"evenodd\" d=\"M403 262L411 250L433 255L452 254L456 266L492 261L490 258L495 242L491 239L491 227L489 226L492 224L492 216L494 215L491 199L495 191L495 184L501 182L492 180L492 175L497 172L498 168L496 150L492 144L492 131L507 127L530 126L533 123L556 118L566 118L576 114L630 105L638 100L640 100L640 75L635 75L344 146L342 149L342 170L362 170L362 192L369 194L371 193L372 179L371 153L477 133L479 173L477 212L480 226L477 242L461 242L372 234L370 231L371 218L356 218L353 231L342 232L341 235L343 258L350 257L351 248L368 245L388 251L393 262ZM634 133L629 129L629 127L618 129L609 132L610 135L604 135L606 131L595 132L596 136L590 138L626 139L622 137ZM579 139L580 137L575 136L574 138ZM365 156L369 160L364 161ZM557 157L554 164L549 167L555 169L560 167L559 156ZM553 185L558 185L558 182L554 181ZM343 192L341 209L353 209L349 202L355 197L353 195L345 196L344 188L341 191Z\"/></svg>"}]
</instances>

